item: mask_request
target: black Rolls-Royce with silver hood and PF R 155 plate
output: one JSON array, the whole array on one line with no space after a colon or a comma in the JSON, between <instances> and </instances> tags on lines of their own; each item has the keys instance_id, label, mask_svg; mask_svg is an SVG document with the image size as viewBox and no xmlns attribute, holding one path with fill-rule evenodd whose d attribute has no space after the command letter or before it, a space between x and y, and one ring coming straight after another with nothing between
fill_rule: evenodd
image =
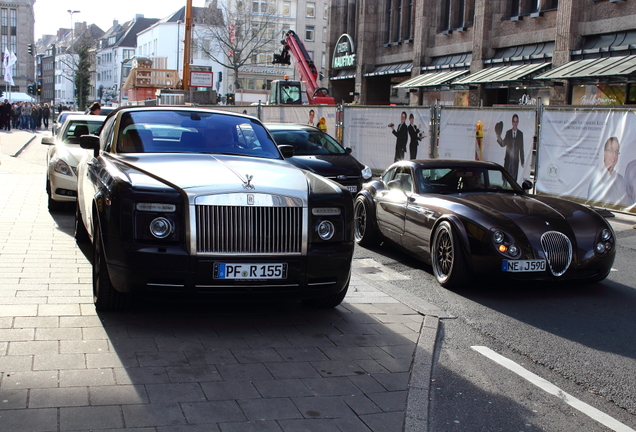
<instances>
[{"instance_id":1,"label":"black Rolls-Royce with silver hood and PF R 155 plate","mask_svg":"<svg viewBox=\"0 0 636 432\"><path fill-rule=\"evenodd\" d=\"M127 107L81 180L75 236L94 252L93 299L298 299L338 305L353 256L353 199L285 161L254 117L192 107Z\"/></svg>"}]
</instances>

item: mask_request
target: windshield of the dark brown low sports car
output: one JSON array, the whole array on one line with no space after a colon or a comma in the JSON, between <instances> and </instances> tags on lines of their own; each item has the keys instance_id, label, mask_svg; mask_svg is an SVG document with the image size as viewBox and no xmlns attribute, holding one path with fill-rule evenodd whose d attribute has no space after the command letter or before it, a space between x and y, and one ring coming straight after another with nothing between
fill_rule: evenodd
<instances>
[{"instance_id":1,"label":"windshield of the dark brown low sports car","mask_svg":"<svg viewBox=\"0 0 636 432\"><path fill-rule=\"evenodd\" d=\"M416 181L422 193L523 192L506 172L495 168L420 168Z\"/></svg>"}]
</instances>

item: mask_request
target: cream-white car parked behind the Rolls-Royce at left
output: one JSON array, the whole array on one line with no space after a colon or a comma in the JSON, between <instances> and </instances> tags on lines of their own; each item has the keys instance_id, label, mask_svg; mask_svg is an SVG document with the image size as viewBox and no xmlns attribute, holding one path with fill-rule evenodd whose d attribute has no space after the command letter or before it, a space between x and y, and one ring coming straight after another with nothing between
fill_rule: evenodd
<instances>
[{"instance_id":1,"label":"cream-white car parked behind the Rolls-Royce at left","mask_svg":"<svg viewBox=\"0 0 636 432\"><path fill-rule=\"evenodd\" d=\"M80 135L95 133L104 123L105 116L73 114L55 136L42 138L48 145L46 152L46 193L49 210L59 210L65 202L77 197L77 164L86 150L80 147Z\"/></svg>"}]
</instances>

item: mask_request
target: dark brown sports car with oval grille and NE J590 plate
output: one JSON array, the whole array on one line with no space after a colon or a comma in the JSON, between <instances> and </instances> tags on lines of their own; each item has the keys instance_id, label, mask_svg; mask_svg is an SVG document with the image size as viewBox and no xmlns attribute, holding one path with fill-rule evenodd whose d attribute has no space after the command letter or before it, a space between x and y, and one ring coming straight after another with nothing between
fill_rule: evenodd
<instances>
[{"instance_id":1,"label":"dark brown sports car with oval grille and NE J590 plate","mask_svg":"<svg viewBox=\"0 0 636 432\"><path fill-rule=\"evenodd\" d=\"M444 287L471 275L519 280L607 277L616 237L595 210L533 195L499 165L401 161L356 196L355 239L387 239L432 265Z\"/></svg>"}]
</instances>

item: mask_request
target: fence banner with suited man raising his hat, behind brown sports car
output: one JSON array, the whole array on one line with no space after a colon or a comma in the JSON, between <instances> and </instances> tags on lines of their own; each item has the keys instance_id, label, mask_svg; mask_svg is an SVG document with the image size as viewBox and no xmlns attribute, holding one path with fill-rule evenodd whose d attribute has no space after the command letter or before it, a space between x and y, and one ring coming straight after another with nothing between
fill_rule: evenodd
<instances>
[{"instance_id":1,"label":"fence banner with suited man raising his hat, behind brown sports car","mask_svg":"<svg viewBox=\"0 0 636 432\"><path fill-rule=\"evenodd\" d=\"M522 183L532 169L535 122L532 108L443 107L437 157L496 162Z\"/></svg>"}]
</instances>

